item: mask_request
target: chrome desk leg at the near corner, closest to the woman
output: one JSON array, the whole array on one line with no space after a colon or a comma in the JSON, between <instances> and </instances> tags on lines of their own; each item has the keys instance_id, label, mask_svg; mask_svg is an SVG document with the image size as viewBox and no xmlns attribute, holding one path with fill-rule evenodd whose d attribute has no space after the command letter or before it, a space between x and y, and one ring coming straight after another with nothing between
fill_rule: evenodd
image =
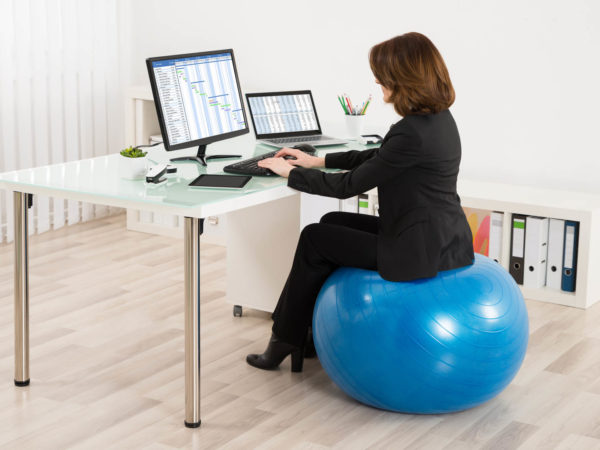
<instances>
[{"instance_id":1,"label":"chrome desk leg at the near corner, closest to the woman","mask_svg":"<svg viewBox=\"0 0 600 450\"><path fill-rule=\"evenodd\" d=\"M204 219L186 217L185 254L185 426L200 426L200 235Z\"/></svg>"}]
</instances>

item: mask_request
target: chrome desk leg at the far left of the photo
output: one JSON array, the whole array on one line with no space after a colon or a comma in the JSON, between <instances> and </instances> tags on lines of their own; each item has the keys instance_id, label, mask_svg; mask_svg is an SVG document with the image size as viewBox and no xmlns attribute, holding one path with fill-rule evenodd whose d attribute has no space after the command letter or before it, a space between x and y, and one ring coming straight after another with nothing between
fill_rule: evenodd
<instances>
[{"instance_id":1,"label":"chrome desk leg at the far left of the photo","mask_svg":"<svg viewBox=\"0 0 600 450\"><path fill-rule=\"evenodd\" d=\"M27 210L31 194L13 192L15 219L15 385L29 385L29 256Z\"/></svg>"}]
</instances>

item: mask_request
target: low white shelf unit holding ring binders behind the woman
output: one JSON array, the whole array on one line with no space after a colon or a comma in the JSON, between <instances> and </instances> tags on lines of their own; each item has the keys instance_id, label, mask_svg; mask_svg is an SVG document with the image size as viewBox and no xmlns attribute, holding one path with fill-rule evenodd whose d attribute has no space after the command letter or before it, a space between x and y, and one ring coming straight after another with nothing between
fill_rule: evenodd
<instances>
[{"instance_id":1,"label":"low white shelf unit holding ring binders behind the woman","mask_svg":"<svg viewBox=\"0 0 600 450\"><path fill-rule=\"evenodd\" d=\"M543 189L503 183L459 179L463 206L504 213L502 266L508 270L512 214L550 217L579 222L579 252L575 292L519 286L523 297L576 308L589 308L600 300L600 195ZM377 204L377 191L369 191L369 204Z\"/></svg>"}]
</instances>

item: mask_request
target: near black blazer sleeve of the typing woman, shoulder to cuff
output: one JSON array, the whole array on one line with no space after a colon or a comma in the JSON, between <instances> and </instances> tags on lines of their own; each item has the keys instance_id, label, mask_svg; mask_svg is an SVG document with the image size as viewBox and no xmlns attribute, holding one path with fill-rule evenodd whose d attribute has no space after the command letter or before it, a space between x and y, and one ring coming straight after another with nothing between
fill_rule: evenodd
<instances>
[{"instance_id":1,"label":"near black blazer sleeve of the typing woman, shoulder to cuff","mask_svg":"<svg viewBox=\"0 0 600 450\"><path fill-rule=\"evenodd\" d=\"M402 176L420 162L421 140L410 130L391 136L372 157L348 172L325 173L297 167L290 172L288 186L309 194L350 198Z\"/></svg>"}]
</instances>

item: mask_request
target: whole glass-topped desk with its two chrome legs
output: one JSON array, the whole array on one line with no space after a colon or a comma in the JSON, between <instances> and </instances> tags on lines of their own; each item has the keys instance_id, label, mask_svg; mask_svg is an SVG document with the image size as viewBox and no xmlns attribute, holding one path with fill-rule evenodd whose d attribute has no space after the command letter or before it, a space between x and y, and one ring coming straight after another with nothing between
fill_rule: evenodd
<instances>
[{"instance_id":1,"label":"whole glass-topped desk with its two chrome legs","mask_svg":"<svg viewBox=\"0 0 600 450\"><path fill-rule=\"evenodd\" d=\"M362 146L353 146L360 148ZM328 150L347 150L347 146ZM209 146L209 154L242 154L244 158L273 150L256 145L250 136ZM150 149L154 162L194 153L195 149L165 152ZM323 155L327 151L319 151ZM0 174L0 188L13 191L15 228L15 384L29 384L29 280L28 209L30 195L46 195L106 206L135 208L184 217L184 297L185 297L185 424L200 425L200 235L204 218L243 210L286 197L298 196L280 177L253 177L239 191L191 188L188 184L202 173L222 173L223 166L239 159L216 160L209 166L176 164L177 173L167 175L162 184L119 177L118 154L54 164ZM295 243L294 243L295 245Z\"/></svg>"}]
</instances>

